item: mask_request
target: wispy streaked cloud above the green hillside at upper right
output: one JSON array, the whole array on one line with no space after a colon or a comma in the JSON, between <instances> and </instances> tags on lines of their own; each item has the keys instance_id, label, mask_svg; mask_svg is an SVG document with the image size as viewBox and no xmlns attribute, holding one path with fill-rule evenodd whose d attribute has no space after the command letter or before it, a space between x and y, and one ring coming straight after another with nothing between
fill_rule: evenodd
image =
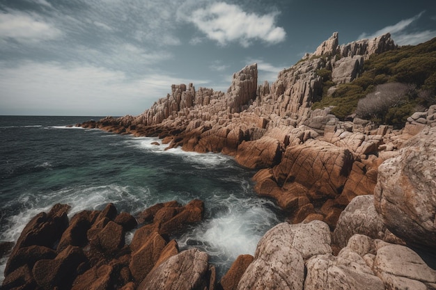
<instances>
[{"instance_id":1,"label":"wispy streaked cloud above the green hillside at upper right","mask_svg":"<svg viewBox=\"0 0 436 290\"><path fill-rule=\"evenodd\" d=\"M362 33L359 35L358 39L372 39L385 33L391 33L391 37L394 39L397 45L417 45L421 42L426 42L427 40L430 40L436 36L436 31L407 31L407 28L410 26L410 24L421 18L423 13L425 13L425 11L422 11L414 17L403 19L394 25L386 26L372 34Z\"/></svg>"}]
</instances>

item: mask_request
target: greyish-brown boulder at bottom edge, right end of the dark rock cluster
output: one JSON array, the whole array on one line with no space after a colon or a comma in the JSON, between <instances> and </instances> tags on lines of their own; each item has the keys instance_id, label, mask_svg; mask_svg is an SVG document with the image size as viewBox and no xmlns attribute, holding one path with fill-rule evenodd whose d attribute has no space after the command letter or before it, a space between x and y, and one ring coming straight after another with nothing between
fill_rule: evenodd
<instances>
[{"instance_id":1,"label":"greyish-brown boulder at bottom edge, right end of the dark rock cluster","mask_svg":"<svg viewBox=\"0 0 436 290\"><path fill-rule=\"evenodd\" d=\"M209 287L208 254L196 248L170 257L148 273L138 290L189 290Z\"/></svg>"}]
</instances>

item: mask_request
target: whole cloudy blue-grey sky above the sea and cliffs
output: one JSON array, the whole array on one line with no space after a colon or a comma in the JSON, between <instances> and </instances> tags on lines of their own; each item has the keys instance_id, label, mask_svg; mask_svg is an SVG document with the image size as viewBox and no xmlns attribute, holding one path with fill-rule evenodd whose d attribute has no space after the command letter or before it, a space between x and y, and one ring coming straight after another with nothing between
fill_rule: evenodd
<instances>
[{"instance_id":1,"label":"whole cloudy blue-grey sky above the sea and cliffs","mask_svg":"<svg viewBox=\"0 0 436 290\"><path fill-rule=\"evenodd\" d=\"M332 33L436 37L434 0L0 0L0 115L138 115L172 83L259 82Z\"/></svg>"}]
</instances>

